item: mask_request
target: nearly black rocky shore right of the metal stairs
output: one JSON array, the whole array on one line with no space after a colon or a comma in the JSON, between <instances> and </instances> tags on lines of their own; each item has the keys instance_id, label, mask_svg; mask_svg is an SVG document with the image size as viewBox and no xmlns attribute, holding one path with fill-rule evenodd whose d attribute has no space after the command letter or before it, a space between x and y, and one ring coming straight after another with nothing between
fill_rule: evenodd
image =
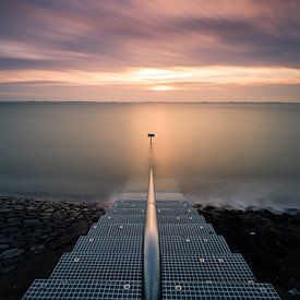
<instances>
[{"instance_id":1,"label":"nearly black rocky shore right of the metal stairs","mask_svg":"<svg viewBox=\"0 0 300 300\"><path fill-rule=\"evenodd\" d=\"M259 281L273 284L281 299L300 299L300 213L196 207Z\"/></svg>"}]
</instances>

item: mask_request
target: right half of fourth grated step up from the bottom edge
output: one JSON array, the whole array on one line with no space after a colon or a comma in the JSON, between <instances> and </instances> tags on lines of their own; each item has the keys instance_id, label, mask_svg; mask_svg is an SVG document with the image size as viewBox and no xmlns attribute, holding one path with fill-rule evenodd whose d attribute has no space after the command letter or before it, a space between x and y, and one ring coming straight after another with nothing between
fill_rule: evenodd
<instances>
[{"instance_id":1,"label":"right half of fourth grated step up from the bottom edge","mask_svg":"<svg viewBox=\"0 0 300 300\"><path fill-rule=\"evenodd\" d=\"M209 236L215 235L211 224L161 224L159 226L160 236Z\"/></svg>"}]
</instances>

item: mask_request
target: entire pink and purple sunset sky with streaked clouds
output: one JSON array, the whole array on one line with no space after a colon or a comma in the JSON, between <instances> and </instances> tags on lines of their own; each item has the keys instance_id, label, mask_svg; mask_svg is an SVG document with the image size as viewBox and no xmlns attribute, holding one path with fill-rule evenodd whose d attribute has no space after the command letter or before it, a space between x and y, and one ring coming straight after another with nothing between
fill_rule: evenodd
<instances>
[{"instance_id":1,"label":"entire pink and purple sunset sky with streaked clouds","mask_svg":"<svg viewBox=\"0 0 300 300\"><path fill-rule=\"evenodd\" d=\"M300 101L298 0L1 0L0 100Z\"/></svg>"}]
</instances>

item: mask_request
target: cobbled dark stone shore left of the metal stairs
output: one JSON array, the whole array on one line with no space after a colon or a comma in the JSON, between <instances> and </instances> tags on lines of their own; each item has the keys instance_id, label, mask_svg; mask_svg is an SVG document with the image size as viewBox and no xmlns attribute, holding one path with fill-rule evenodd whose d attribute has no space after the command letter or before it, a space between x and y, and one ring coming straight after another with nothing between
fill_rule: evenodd
<instances>
[{"instance_id":1,"label":"cobbled dark stone shore left of the metal stairs","mask_svg":"<svg viewBox=\"0 0 300 300\"><path fill-rule=\"evenodd\" d=\"M0 299L21 299L47 278L104 209L96 204L0 196Z\"/></svg>"}]
</instances>

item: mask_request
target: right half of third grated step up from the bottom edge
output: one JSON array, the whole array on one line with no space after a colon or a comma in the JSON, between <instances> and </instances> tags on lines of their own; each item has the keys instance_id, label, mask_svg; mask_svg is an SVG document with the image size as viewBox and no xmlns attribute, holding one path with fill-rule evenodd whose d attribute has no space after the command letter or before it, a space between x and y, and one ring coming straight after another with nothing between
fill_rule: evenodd
<instances>
[{"instance_id":1,"label":"right half of third grated step up from the bottom edge","mask_svg":"<svg viewBox=\"0 0 300 300\"><path fill-rule=\"evenodd\" d=\"M230 253L230 250L221 236L209 237L160 237L160 249L163 255L183 255L183 254L221 254Z\"/></svg>"}]
</instances>

